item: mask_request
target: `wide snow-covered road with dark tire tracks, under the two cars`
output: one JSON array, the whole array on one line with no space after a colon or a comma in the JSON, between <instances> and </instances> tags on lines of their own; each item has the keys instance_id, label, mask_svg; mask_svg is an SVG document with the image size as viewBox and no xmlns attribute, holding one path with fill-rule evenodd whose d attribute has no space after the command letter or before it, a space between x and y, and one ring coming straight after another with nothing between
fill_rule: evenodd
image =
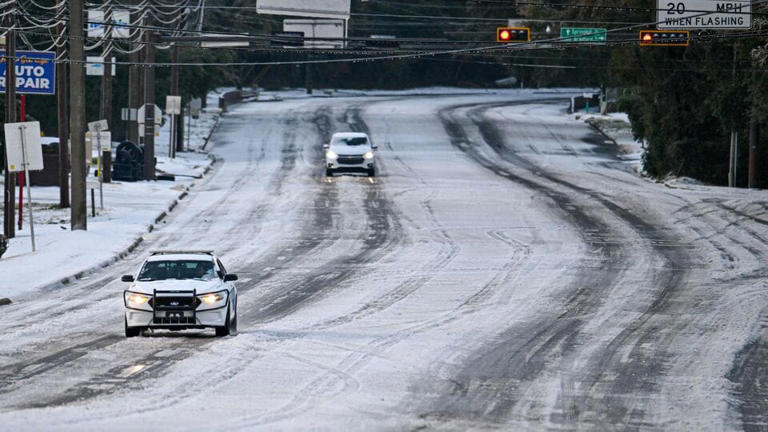
<instances>
[{"instance_id":1,"label":"wide snow-covered road with dark tire tracks, under the two cars","mask_svg":"<svg viewBox=\"0 0 768 432\"><path fill-rule=\"evenodd\" d=\"M569 96L234 107L132 255L0 309L0 430L765 430L768 193L640 178ZM345 130L379 177L323 176ZM125 339L119 276L208 247L240 334Z\"/></svg>"}]
</instances>

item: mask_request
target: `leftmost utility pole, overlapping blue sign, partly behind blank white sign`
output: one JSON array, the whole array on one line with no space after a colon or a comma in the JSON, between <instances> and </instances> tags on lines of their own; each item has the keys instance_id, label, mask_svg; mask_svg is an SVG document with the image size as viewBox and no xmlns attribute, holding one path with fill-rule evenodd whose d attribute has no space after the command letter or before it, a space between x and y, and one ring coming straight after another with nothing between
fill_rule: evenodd
<instances>
[{"instance_id":1,"label":"leftmost utility pole, overlapping blue sign, partly behind blank white sign","mask_svg":"<svg viewBox=\"0 0 768 432\"><path fill-rule=\"evenodd\" d=\"M16 123L16 16L15 7L13 4L9 6L11 9L9 14L5 17L6 28L10 29L5 35L5 122ZM7 67L13 65L12 67ZM7 155L6 155L7 159ZM4 196L4 233L7 238L16 237L16 227L13 224L14 215L16 213L15 203L15 191L16 186L15 175L8 169L7 160L4 161L5 166L5 193Z\"/></svg>"}]
</instances>

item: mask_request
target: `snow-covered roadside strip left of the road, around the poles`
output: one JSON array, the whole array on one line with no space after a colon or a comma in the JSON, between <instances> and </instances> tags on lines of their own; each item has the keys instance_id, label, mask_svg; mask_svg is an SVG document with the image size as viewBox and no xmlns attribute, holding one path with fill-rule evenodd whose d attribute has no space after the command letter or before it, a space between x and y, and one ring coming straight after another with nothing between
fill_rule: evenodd
<instances>
[{"instance_id":1,"label":"snow-covered roadside strip left of the road, around the poles","mask_svg":"<svg viewBox=\"0 0 768 432\"><path fill-rule=\"evenodd\" d=\"M218 94L209 95L208 106L217 106L217 98ZM0 258L0 300L16 302L33 291L66 285L129 254L215 163L206 150L212 147L208 139L218 119L218 108L204 110L191 122L185 119L185 126L190 126L185 131L189 151L177 153L175 159L168 157L170 131L166 121L156 138L157 170L174 174L175 180L104 183L103 208L92 167L87 182L95 185L96 216L92 217L89 189L87 231L70 230L70 209L58 208L58 186L33 186L36 251L32 251L25 196L23 227L17 229ZM117 144L113 143L113 149Z\"/></svg>"}]
</instances>

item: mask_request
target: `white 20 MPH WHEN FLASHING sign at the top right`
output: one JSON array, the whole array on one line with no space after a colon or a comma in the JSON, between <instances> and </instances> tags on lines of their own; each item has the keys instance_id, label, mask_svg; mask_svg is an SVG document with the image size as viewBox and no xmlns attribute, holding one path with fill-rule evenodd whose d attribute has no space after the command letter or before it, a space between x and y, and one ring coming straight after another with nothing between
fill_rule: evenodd
<instances>
[{"instance_id":1,"label":"white 20 MPH WHEN FLASHING sign at the top right","mask_svg":"<svg viewBox=\"0 0 768 432\"><path fill-rule=\"evenodd\" d=\"M656 0L659 29L748 29L751 1Z\"/></svg>"}]
</instances>

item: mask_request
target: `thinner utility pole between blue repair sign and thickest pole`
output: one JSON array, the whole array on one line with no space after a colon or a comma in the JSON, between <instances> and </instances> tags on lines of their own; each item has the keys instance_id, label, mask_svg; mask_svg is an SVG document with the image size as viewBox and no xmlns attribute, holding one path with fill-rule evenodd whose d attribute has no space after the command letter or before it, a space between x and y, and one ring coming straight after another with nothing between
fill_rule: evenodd
<instances>
[{"instance_id":1,"label":"thinner utility pole between blue repair sign and thickest pole","mask_svg":"<svg viewBox=\"0 0 768 432\"><path fill-rule=\"evenodd\" d=\"M66 57L66 26L57 26L60 46L56 47L56 59ZM69 207L69 116L67 115L67 64L56 63L56 103L59 120L59 207Z\"/></svg>"}]
</instances>

